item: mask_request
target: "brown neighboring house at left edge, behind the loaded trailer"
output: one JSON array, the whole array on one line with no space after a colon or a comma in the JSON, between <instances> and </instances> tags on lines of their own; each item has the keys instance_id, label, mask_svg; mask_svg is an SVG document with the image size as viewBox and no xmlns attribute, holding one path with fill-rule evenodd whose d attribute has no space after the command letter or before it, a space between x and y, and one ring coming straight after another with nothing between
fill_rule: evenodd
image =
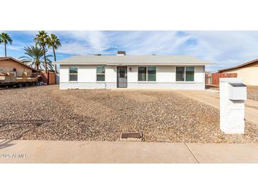
<instances>
[{"instance_id":1,"label":"brown neighboring house at left edge, behind the loaded trailer","mask_svg":"<svg viewBox=\"0 0 258 194\"><path fill-rule=\"evenodd\" d=\"M13 72L16 69L16 76L23 76L23 72L36 72L35 69L20 62L13 57L0 57L0 69L3 72Z\"/></svg>"}]
</instances>

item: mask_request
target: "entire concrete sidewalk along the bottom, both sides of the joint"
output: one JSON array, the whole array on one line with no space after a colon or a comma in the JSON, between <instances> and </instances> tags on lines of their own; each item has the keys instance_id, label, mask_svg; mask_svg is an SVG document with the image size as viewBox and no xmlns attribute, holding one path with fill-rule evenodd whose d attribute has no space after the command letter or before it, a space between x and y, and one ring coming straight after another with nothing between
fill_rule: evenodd
<instances>
[{"instance_id":1,"label":"entire concrete sidewalk along the bottom, both sides of the joint","mask_svg":"<svg viewBox=\"0 0 258 194\"><path fill-rule=\"evenodd\" d=\"M0 163L258 163L258 144L1 140Z\"/></svg>"}]
</instances>

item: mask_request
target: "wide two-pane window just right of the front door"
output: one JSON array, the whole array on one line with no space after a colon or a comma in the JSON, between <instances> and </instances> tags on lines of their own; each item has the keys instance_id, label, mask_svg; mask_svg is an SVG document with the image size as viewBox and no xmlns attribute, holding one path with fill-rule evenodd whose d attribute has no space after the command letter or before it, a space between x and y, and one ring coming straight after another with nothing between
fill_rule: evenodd
<instances>
[{"instance_id":1,"label":"wide two-pane window just right of the front door","mask_svg":"<svg viewBox=\"0 0 258 194\"><path fill-rule=\"evenodd\" d=\"M156 67L138 67L138 81L156 81Z\"/></svg>"}]
</instances>

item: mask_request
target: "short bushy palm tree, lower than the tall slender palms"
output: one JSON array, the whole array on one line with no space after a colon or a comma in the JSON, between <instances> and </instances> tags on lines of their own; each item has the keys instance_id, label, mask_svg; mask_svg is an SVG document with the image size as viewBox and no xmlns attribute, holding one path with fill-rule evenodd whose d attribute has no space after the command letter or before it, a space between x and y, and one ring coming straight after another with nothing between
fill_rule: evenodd
<instances>
[{"instance_id":1,"label":"short bushy palm tree, lower than the tall slender palms","mask_svg":"<svg viewBox=\"0 0 258 194\"><path fill-rule=\"evenodd\" d=\"M24 53L25 55L19 58L21 62L24 62L25 64L28 64L28 66L39 70L44 68L45 66L44 57L46 57L46 61L49 69L53 70L52 62L49 59L49 57L52 57L52 55L44 56L44 50L41 47L37 47L37 46L24 47L24 50L25 50L25 53ZM45 50L45 52L47 52L47 50Z\"/></svg>"}]
</instances>

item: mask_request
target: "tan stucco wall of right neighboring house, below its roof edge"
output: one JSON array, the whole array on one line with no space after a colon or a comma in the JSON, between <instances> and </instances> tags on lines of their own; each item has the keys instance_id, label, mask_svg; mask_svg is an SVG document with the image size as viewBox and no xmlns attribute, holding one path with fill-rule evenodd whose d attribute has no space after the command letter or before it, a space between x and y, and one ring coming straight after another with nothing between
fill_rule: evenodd
<instances>
[{"instance_id":1,"label":"tan stucco wall of right neighboring house, below its roof edge","mask_svg":"<svg viewBox=\"0 0 258 194\"><path fill-rule=\"evenodd\" d=\"M248 86L258 86L258 67L232 69L223 73L237 73L238 77L243 79L244 84Z\"/></svg>"}]
</instances>

